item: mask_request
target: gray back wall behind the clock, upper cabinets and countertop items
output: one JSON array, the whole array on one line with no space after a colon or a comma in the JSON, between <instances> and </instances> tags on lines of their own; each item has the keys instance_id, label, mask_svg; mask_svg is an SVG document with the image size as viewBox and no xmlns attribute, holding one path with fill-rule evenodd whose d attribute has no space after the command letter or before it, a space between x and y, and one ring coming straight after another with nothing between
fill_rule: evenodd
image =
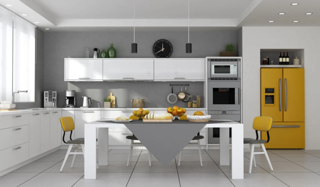
<instances>
[{"instance_id":1,"label":"gray back wall behind the clock, upper cabinets and countertop items","mask_svg":"<svg viewBox=\"0 0 320 187\"><path fill-rule=\"evenodd\" d=\"M136 32L135 41L138 44L138 53L131 53L133 43L132 32L45 32L44 33L44 90L56 90L58 92L58 107L64 107L64 91L75 89L77 93L77 107L81 106L84 94L95 100L93 107L114 92L118 107L131 107L129 99L144 98L148 101L146 107L167 107L164 100L171 91L169 82L65 82L64 58L84 58L85 47L89 47L90 57L93 48L107 50L113 43L117 50L118 58L154 58L152 46L158 39L168 39L173 46L172 58L204 58L206 56L219 56L227 43L233 43L236 47L236 30L214 30L190 32L192 53L186 53L188 32L159 31ZM179 90L175 89L176 93ZM190 94L203 96L203 83L192 82ZM155 94L154 94L155 93ZM185 103L183 103L185 104ZM181 104L178 104L182 106ZM184 105L186 106L186 105Z\"/></svg>"}]
</instances>

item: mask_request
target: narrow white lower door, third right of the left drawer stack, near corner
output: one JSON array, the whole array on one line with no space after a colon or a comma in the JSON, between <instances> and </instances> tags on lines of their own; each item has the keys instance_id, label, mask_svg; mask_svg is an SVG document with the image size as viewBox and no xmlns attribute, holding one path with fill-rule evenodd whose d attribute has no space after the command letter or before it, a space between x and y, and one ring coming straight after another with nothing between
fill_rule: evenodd
<instances>
[{"instance_id":1,"label":"narrow white lower door, third right of the left drawer stack, near corner","mask_svg":"<svg viewBox=\"0 0 320 187\"><path fill-rule=\"evenodd\" d=\"M54 149L58 147L58 127L57 126L58 126L58 111L51 111L50 112L50 149Z\"/></svg>"}]
</instances>

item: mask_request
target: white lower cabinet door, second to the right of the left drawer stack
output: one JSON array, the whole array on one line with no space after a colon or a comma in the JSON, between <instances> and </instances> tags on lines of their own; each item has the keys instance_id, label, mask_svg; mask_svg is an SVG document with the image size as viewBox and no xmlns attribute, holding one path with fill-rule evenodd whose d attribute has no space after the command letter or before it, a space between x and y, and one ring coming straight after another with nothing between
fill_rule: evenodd
<instances>
[{"instance_id":1,"label":"white lower cabinet door, second to the right of the left drawer stack","mask_svg":"<svg viewBox=\"0 0 320 187\"><path fill-rule=\"evenodd\" d=\"M50 150L50 112L40 113L40 154Z\"/></svg>"}]
</instances>

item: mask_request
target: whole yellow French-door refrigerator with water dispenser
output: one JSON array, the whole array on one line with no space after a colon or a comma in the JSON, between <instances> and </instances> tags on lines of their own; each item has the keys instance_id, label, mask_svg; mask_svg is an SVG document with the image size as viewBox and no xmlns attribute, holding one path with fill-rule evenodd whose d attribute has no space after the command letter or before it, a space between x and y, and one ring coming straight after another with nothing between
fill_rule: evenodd
<instances>
[{"instance_id":1,"label":"whole yellow French-door refrigerator with water dispenser","mask_svg":"<svg viewBox=\"0 0 320 187\"><path fill-rule=\"evenodd\" d=\"M261 68L261 116L273 118L268 149L304 149L304 68ZM267 140L267 133L261 132Z\"/></svg>"}]
</instances>

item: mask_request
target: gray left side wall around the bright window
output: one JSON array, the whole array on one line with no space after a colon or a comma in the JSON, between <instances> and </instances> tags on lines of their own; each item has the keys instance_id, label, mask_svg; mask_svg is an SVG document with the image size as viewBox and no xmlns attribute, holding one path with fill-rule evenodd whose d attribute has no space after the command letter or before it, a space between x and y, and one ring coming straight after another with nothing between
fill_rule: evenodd
<instances>
[{"instance_id":1,"label":"gray left side wall around the bright window","mask_svg":"<svg viewBox=\"0 0 320 187\"><path fill-rule=\"evenodd\" d=\"M44 91L44 31L36 28L36 60L35 65L35 102L15 103L16 108L39 108L43 107Z\"/></svg>"}]
</instances>

